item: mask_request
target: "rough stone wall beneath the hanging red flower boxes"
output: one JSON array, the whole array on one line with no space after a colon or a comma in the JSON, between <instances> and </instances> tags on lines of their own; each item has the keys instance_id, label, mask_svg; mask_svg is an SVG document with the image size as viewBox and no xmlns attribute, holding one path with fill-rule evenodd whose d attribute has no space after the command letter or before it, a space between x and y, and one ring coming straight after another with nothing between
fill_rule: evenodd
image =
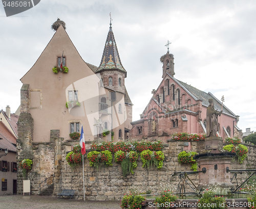
<instances>
[{"instance_id":1,"label":"rough stone wall beneath the hanging red flower boxes","mask_svg":"<svg viewBox=\"0 0 256 209\"><path fill-rule=\"evenodd\" d=\"M51 132L52 141L50 143L33 143L34 159L32 170L28 173L31 180L32 194L39 194L39 183L51 174L54 177L54 192L56 195L62 189L76 190L75 196L83 199L83 169L82 165L74 168L70 167L66 161L66 156L71 151L71 146L77 142L63 142L58 138L57 130ZM54 139L54 140L53 140ZM158 188L160 184L166 184L172 180L172 185L178 185L178 176L172 174L175 171L191 171L191 165L181 165L178 163L178 153L184 150L183 141L168 140L163 152L165 160L162 169L142 168L142 162L138 159L138 167L134 169L134 174L127 177L122 176L121 165L114 162L113 166L100 167L97 170L89 166L87 156L84 155L84 184L86 199L88 200L119 200L124 191L130 186L140 186L147 189ZM247 144L246 144L247 145ZM231 161L232 169L255 168L256 146L247 145L249 149L248 160L239 164L237 159ZM87 150L87 153L90 150ZM191 142L191 151L202 153L204 142ZM113 156L114 158L114 156ZM201 170L199 168L199 170ZM244 179L244 175L238 174L238 180ZM22 175L18 178L23 179ZM198 174L189 175L189 178L198 185ZM233 180L234 182L234 180ZM20 194L22 190L18 190Z\"/></svg>"}]
</instances>

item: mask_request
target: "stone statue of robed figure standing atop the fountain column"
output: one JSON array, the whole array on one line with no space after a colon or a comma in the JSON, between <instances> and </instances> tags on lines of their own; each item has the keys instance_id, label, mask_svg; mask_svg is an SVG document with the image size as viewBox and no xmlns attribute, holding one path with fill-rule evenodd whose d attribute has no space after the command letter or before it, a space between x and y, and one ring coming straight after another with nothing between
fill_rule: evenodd
<instances>
[{"instance_id":1,"label":"stone statue of robed figure standing atop the fountain column","mask_svg":"<svg viewBox=\"0 0 256 209\"><path fill-rule=\"evenodd\" d=\"M214 99L209 99L209 106L206 111L206 137L218 137L218 116L222 114L214 109Z\"/></svg>"}]
</instances>

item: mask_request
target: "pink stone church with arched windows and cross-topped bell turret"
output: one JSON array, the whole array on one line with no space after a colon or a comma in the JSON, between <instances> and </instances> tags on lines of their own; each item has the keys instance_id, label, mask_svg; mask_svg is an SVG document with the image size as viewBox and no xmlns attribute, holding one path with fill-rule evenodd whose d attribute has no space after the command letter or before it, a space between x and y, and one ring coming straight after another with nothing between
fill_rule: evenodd
<instances>
[{"instance_id":1,"label":"pink stone church with arched windows and cross-topped bell turret","mask_svg":"<svg viewBox=\"0 0 256 209\"><path fill-rule=\"evenodd\" d=\"M133 121L130 137L136 139L170 139L170 135L186 132L188 134L206 134L206 109L209 99L214 100L215 109L221 111L222 102L210 92L203 92L176 79L174 55L167 53L160 58L162 81L153 89L152 98L140 115ZM241 129L237 126L239 116L225 105L218 121L218 135L223 138L241 138Z\"/></svg>"}]
</instances>

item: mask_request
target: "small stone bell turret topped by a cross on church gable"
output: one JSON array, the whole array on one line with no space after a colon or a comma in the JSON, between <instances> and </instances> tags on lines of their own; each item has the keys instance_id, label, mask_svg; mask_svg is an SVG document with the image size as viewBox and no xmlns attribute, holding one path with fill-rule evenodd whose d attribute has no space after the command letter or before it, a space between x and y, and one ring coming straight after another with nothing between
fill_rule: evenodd
<instances>
[{"instance_id":1,"label":"small stone bell turret topped by a cross on church gable","mask_svg":"<svg viewBox=\"0 0 256 209\"><path fill-rule=\"evenodd\" d=\"M162 77L165 76L166 73L169 73L170 75L174 76L174 55L169 54L169 44L170 42L168 41L165 46L167 46L167 53L163 55L160 58L161 63L163 63L163 75Z\"/></svg>"}]
</instances>

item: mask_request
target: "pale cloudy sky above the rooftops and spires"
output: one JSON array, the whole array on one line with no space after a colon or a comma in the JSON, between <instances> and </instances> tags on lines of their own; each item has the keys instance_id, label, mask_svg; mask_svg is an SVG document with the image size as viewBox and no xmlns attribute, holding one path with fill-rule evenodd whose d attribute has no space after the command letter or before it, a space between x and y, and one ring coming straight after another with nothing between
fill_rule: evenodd
<instances>
[{"instance_id":1,"label":"pale cloudy sky above the rooftops and spires","mask_svg":"<svg viewBox=\"0 0 256 209\"><path fill-rule=\"evenodd\" d=\"M160 57L175 58L175 77L211 92L240 116L238 127L256 130L256 1L211 0L42 0L6 17L0 5L0 109L14 113L20 103L19 81L54 35L57 18L82 59L99 66L110 16L123 67L125 86L139 120L162 80Z\"/></svg>"}]
</instances>

